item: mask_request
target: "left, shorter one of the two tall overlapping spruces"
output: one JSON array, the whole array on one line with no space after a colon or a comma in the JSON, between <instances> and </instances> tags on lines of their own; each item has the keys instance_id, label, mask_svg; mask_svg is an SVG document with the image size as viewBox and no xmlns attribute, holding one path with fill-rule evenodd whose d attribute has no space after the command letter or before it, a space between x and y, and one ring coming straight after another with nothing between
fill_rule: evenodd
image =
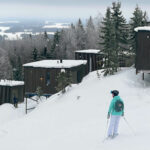
<instances>
[{"instance_id":1,"label":"left, shorter one of the two tall overlapping spruces","mask_svg":"<svg viewBox=\"0 0 150 150\"><path fill-rule=\"evenodd\" d=\"M112 26L112 18L111 18L111 10L108 7L106 11L106 15L102 21L101 33L100 38L103 42L100 44L102 45L102 53L104 53L104 75L113 74L115 71L115 50L113 51L113 26Z\"/></svg>"}]
</instances>

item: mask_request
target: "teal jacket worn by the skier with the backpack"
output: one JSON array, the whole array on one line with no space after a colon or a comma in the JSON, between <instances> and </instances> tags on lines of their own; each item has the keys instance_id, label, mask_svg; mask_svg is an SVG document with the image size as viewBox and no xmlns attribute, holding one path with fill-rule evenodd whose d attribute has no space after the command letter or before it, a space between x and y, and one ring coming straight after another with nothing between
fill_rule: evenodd
<instances>
[{"instance_id":1,"label":"teal jacket worn by the skier with the backpack","mask_svg":"<svg viewBox=\"0 0 150 150\"><path fill-rule=\"evenodd\" d=\"M116 112L116 111L115 111L115 102L116 102L118 99L123 102L123 100L120 98L120 96L115 96L115 97L112 99L111 103L110 103L109 110L108 110L108 114L121 116L121 115L124 113L124 110L122 110L122 111L120 111L120 112Z\"/></svg>"}]
</instances>

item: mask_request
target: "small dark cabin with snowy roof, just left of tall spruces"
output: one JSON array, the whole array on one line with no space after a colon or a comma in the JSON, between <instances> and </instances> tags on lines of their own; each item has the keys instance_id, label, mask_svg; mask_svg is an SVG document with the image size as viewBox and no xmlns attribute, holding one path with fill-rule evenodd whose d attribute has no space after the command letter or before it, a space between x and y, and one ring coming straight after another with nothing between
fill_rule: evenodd
<instances>
[{"instance_id":1,"label":"small dark cabin with snowy roof, just left of tall spruces","mask_svg":"<svg viewBox=\"0 0 150 150\"><path fill-rule=\"evenodd\" d=\"M88 49L75 51L76 60L87 60L87 72L102 68L104 55L100 50Z\"/></svg>"}]
</instances>

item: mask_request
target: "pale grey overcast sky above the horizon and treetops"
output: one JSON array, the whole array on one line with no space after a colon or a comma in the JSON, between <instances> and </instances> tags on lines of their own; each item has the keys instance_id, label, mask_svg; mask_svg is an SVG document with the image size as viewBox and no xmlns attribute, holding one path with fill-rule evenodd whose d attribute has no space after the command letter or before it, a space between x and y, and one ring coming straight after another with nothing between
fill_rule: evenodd
<instances>
[{"instance_id":1,"label":"pale grey overcast sky above the horizon and treetops","mask_svg":"<svg viewBox=\"0 0 150 150\"><path fill-rule=\"evenodd\" d=\"M0 0L0 18L88 18L105 14L112 0ZM124 16L129 19L138 4L150 16L150 0L121 0Z\"/></svg>"}]
</instances>

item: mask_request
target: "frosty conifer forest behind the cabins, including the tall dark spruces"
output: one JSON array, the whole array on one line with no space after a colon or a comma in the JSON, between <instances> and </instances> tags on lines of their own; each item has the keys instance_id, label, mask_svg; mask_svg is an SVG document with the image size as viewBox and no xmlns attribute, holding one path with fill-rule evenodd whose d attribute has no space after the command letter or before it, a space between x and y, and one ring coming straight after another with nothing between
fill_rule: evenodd
<instances>
[{"instance_id":1,"label":"frosty conifer forest behind the cabins, including the tall dark spruces","mask_svg":"<svg viewBox=\"0 0 150 150\"><path fill-rule=\"evenodd\" d=\"M0 41L0 79L23 80L24 63L43 59L74 59L76 50L100 49L105 54L105 75L119 67L119 56L136 54L134 28L148 26L145 11L137 5L130 20L121 11L121 3L113 2L105 16L97 15L83 23L78 19L70 28L57 31L53 37L47 32L23 39Z\"/></svg>"}]
</instances>

